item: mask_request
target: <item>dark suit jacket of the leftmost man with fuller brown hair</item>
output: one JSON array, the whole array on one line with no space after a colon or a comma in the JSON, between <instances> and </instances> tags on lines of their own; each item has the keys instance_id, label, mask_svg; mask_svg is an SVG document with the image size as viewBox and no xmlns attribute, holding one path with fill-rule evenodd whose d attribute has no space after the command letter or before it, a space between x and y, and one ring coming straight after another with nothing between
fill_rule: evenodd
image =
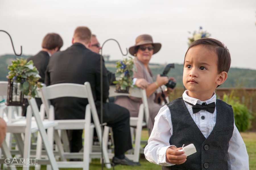
<instances>
[{"instance_id":1,"label":"dark suit jacket of the leftmost man with fuller brown hair","mask_svg":"<svg viewBox=\"0 0 256 170\"><path fill-rule=\"evenodd\" d=\"M50 59L50 56L46 51L40 51L38 54L32 57L29 57L27 59L27 61L32 60L34 63L34 66L36 66L37 70L39 71L39 75L41 76L41 78L39 79L39 82L44 83L44 73L49 63L49 59Z\"/></svg>"}]
</instances>

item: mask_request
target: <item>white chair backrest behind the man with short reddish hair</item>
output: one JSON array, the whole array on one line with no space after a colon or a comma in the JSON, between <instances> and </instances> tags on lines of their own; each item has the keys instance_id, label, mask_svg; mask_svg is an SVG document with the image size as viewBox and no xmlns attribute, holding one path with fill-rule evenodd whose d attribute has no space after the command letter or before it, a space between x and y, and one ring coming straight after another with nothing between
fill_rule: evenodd
<instances>
[{"instance_id":1,"label":"white chair backrest behind the man with short reddish hair","mask_svg":"<svg viewBox=\"0 0 256 170\"><path fill-rule=\"evenodd\" d=\"M82 84L60 83L51 86L43 84L41 91L38 91L39 96L45 107L46 115L49 118L50 99L61 97L77 97L87 98L91 108L95 107L92 90L89 82ZM96 111L96 107L94 109Z\"/></svg>"}]
</instances>

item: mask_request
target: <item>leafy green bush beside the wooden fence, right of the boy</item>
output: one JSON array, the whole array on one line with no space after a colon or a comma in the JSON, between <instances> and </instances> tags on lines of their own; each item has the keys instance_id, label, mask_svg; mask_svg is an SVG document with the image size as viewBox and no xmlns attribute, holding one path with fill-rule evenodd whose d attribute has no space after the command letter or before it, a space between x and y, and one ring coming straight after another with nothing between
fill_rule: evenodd
<instances>
[{"instance_id":1,"label":"leafy green bush beside the wooden fence, right of the boy","mask_svg":"<svg viewBox=\"0 0 256 170\"><path fill-rule=\"evenodd\" d=\"M234 90L232 90L230 96L224 94L223 101L232 105L234 111L235 125L239 132L244 132L245 130L251 128L251 115L248 108L239 102L239 98L233 96Z\"/></svg>"}]
</instances>

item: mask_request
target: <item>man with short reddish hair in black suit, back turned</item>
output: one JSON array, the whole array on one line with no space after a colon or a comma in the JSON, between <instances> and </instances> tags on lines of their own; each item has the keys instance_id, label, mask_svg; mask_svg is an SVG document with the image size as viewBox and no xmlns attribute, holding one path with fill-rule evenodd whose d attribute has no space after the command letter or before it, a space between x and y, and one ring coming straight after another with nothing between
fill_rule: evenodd
<instances>
[{"instance_id":1,"label":"man with short reddish hair in black suit, back turned","mask_svg":"<svg viewBox=\"0 0 256 170\"><path fill-rule=\"evenodd\" d=\"M91 40L91 31L87 27L77 27L72 43L65 51L52 55L45 74L47 86L59 83L84 84L90 82L95 105L100 117L100 55L88 49ZM132 148L130 134L129 111L113 103L106 103L108 98L109 83L107 70L103 67L103 121L113 129L115 164L140 165L124 156ZM82 98L57 98L51 100L55 108L55 119L84 119L87 99ZM79 152L82 148L82 130L69 130L71 152Z\"/></svg>"}]
</instances>

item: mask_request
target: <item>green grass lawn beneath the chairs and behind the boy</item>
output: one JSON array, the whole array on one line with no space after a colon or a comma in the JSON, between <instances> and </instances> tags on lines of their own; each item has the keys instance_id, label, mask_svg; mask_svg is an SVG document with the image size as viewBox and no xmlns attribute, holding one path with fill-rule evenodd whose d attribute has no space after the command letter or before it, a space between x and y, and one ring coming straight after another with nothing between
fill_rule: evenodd
<instances>
[{"instance_id":1,"label":"green grass lawn beneath the chairs and behind the boy","mask_svg":"<svg viewBox=\"0 0 256 170\"><path fill-rule=\"evenodd\" d=\"M250 170L256 169L256 133L255 132L241 132L241 136L243 141L245 142L247 153L249 155L249 166ZM142 140L148 139L148 132L143 130L142 132ZM154 163L148 162L146 159L140 159L141 166L124 166L117 165L114 167L115 170L160 170L161 166L156 165ZM22 170L22 167L18 167L18 170ZM31 168L34 169L34 168ZM46 170L46 166L42 165L42 170ZM61 170L71 170L60 168ZM75 170L82 170L81 168L74 168ZM101 164L99 159L93 159L92 163L90 163L90 170L100 170ZM113 167L112 167L113 169ZM104 170L107 170L104 166Z\"/></svg>"}]
</instances>

